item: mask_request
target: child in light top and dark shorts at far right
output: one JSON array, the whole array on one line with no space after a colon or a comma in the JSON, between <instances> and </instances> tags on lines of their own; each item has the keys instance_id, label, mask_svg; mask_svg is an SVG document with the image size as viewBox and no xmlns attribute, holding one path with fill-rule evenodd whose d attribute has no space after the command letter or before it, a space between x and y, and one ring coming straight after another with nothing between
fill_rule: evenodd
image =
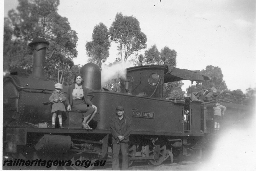
<instances>
[{"instance_id":1,"label":"child in light top and dark shorts at far right","mask_svg":"<svg viewBox=\"0 0 256 171\"><path fill-rule=\"evenodd\" d=\"M216 101L213 107L214 111L214 133L219 133L220 123L222 121L222 116L226 111L226 107L219 104L219 101Z\"/></svg>"}]
</instances>

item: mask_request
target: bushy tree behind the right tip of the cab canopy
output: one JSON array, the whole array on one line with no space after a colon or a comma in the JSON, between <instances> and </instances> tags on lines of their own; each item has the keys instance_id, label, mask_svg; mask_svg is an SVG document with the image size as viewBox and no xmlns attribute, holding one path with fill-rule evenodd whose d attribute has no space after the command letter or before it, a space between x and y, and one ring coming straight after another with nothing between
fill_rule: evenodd
<instances>
[{"instance_id":1,"label":"bushy tree behind the right tip of the cab canopy","mask_svg":"<svg viewBox=\"0 0 256 171\"><path fill-rule=\"evenodd\" d=\"M208 88L212 88L215 87L216 89L219 90L225 90L227 89L227 85L225 83L225 81L223 80L223 74L221 71L221 68L219 68L218 66L212 66L212 65L208 65L206 66L206 69L202 70L201 73L209 75L210 76L210 80L206 80L203 82L196 82L196 87L198 87L199 89L208 89Z\"/></svg>"}]
</instances>

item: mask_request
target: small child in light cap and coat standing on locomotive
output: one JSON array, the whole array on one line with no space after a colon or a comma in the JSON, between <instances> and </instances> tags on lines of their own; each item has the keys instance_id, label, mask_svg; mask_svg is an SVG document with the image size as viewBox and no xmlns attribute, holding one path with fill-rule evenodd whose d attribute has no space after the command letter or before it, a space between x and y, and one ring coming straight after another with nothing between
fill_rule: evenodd
<instances>
[{"instance_id":1,"label":"small child in light cap and coat standing on locomotive","mask_svg":"<svg viewBox=\"0 0 256 171\"><path fill-rule=\"evenodd\" d=\"M60 128L64 128L62 126L62 113L66 111L65 105L63 102L66 101L66 97L63 92L61 92L62 84L57 83L54 85L55 91L52 92L49 101L52 103L52 128L55 128L55 120L58 115Z\"/></svg>"}]
</instances>

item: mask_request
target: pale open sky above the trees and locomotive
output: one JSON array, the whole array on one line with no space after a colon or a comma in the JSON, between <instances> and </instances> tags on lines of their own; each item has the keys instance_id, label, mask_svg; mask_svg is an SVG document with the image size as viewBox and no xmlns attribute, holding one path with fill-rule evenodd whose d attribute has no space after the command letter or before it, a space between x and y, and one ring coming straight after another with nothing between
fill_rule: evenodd
<instances>
[{"instance_id":1,"label":"pale open sky above the trees and locomotive","mask_svg":"<svg viewBox=\"0 0 256 171\"><path fill-rule=\"evenodd\" d=\"M17 0L4 0L4 17L17 5ZM147 36L145 50L168 46L177 52L178 68L218 66L228 89L245 93L256 87L254 0L60 0L58 13L68 18L79 39L75 64L87 63L85 44L94 26L102 22L109 29L119 12L138 19ZM111 43L106 64L117 58L116 46ZM183 90L191 84L183 82Z\"/></svg>"}]
</instances>

